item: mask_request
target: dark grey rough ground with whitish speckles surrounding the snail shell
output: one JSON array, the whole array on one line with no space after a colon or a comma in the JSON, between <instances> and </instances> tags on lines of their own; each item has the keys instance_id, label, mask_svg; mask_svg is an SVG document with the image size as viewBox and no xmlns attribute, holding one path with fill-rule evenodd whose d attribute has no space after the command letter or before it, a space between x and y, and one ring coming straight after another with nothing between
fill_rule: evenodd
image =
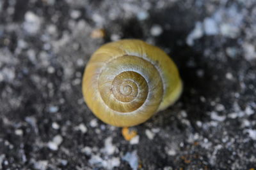
<instances>
[{"instance_id":1,"label":"dark grey rough ground with whitish speckles surrounding the snail shell","mask_svg":"<svg viewBox=\"0 0 256 170\"><path fill-rule=\"evenodd\" d=\"M255 0L0 0L0 169L256 168L255 16ZM161 47L184 81L131 142L81 92L90 55L123 38Z\"/></svg>"}]
</instances>

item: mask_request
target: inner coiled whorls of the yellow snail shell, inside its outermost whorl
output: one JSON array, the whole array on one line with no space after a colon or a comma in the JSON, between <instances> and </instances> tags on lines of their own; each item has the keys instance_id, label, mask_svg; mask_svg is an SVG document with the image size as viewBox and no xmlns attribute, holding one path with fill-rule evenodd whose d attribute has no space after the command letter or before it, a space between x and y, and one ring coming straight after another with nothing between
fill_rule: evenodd
<instances>
[{"instance_id":1,"label":"inner coiled whorls of the yellow snail shell, inside its outermost whorl","mask_svg":"<svg viewBox=\"0 0 256 170\"><path fill-rule=\"evenodd\" d=\"M153 64L138 56L123 55L104 67L99 76L99 92L113 111L130 114L143 104L154 104L157 110L163 84Z\"/></svg>"}]
</instances>

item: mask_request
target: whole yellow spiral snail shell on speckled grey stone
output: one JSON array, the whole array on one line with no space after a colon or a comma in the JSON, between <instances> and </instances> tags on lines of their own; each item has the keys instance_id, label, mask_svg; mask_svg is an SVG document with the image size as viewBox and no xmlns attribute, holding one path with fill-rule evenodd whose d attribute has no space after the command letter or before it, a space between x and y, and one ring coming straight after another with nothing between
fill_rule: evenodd
<instances>
[{"instance_id":1,"label":"whole yellow spiral snail shell on speckled grey stone","mask_svg":"<svg viewBox=\"0 0 256 170\"><path fill-rule=\"evenodd\" d=\"M82 89L96 117L106 124L131 127L175 103L182 81L163 50L138 39L124 39L93 53Z\"/></svg>"}]
</instances>

